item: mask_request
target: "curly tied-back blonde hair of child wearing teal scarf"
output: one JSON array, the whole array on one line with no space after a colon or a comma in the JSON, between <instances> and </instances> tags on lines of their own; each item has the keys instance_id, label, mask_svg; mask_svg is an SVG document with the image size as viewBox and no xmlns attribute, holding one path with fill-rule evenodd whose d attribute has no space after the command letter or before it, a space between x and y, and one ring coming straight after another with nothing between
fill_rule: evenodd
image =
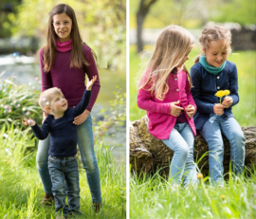
<instances>
[{"instance_id":1,"label":"curly tied-back blonde hair of child wearing teal scarf","mask_svg":"<svg viewBox=\"0 0 256 219\"><path fill-rule=\"evenodd\" d=\"M214 25L212 27L205 27L202 31L202 34L199 38L199 43L203 46L204 49L208 49L211 41L226 41L229 46L229 54L231 53L231 32L228 28ZM199 62L199 57L203 54L201 52L198 56L196 56L194 60L194 64Z\"/></svg>"}]
</instances>

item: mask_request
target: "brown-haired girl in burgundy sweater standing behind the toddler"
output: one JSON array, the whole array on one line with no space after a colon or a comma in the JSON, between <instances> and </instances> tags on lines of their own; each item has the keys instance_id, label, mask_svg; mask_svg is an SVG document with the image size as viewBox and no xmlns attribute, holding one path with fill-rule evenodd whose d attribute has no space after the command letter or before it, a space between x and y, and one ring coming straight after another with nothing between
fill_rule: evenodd
<instances>
[{"instance_id":1,"label":"brown-haired girl in burgundy sweater standing behind the toddler","mask_svg":"<svg viewBox=\"0 0 256 219\"><path fill-rule=\"evenodd\" d=\"M68 5L57 5L49 12L46 46L40 50L39 54L42 91L51 87L60 88L68 101L68 107L76 106L82 99L85 89L85 74L89 80L93 76L97 76L86 110L73 122L77 125L82 164L86 171L93 207L97 212L101 206L101 179L94 153L90 112L100 92L101 85L94 60L95 54L89 46L82 42L75 12ZM46 116L44 112L44 119ZM47 168L49 137L39 141L36 157L37 168L46 192L42 201L45 204L51 204L54 195Z\"/></svg>"}]
</instances>

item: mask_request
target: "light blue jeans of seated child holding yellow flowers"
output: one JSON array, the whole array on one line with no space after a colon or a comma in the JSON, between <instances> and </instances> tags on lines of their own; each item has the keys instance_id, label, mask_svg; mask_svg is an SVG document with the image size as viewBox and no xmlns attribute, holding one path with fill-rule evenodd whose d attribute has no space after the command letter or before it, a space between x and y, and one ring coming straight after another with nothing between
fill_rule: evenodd
<instances>
[{"instance_id":1,"label":"light blue jeans of seated child holding yellow flowers","mask_svg":"<svg viewBox=\"0 0 256 219\"><path fill-rule=\"evenodd\" d=\"M215 114L204 124L201 135L206 139L209 146L209 166L211 181L220 185L223 180L223 155L224 143L221 133L229 139L231 168L235 174L244 170L245 145L244 133L234 118L224 118Z\"/></svg>"}]
</instances>

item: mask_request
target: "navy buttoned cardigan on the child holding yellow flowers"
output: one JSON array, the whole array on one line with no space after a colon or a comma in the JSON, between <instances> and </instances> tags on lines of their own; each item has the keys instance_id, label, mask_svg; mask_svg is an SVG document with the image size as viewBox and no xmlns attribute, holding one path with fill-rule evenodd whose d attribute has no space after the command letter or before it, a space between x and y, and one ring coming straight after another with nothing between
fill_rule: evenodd
<instances>
[{"instance_id":1,"label":"navy buttoned cardigan on the child holding yellow flowers","mask_svg":"<svg viewBox=\"0 0 256 219\"><path fill-rule=\"evenodd\" d=\"M202 130L205 122L214 114L213 105L220 100L215 96L219 90L229 90L229 96L233 99L232 105L224 109L224 118L234 117L232 106L239 101L238 81L236 65L227 61L225 68L218 75L210 74L202 64L194 64L191 68L192 97L197 106L193 116L197 130ZM225 97L222 98L222 101Z\"/></svg>"}]
</instances>

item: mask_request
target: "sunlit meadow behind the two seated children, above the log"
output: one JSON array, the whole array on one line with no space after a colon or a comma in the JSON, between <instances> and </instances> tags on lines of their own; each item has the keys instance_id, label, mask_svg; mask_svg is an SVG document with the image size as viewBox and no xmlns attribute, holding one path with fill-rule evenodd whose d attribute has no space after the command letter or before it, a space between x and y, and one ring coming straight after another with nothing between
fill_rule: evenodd
<instances>
[{"instance_id":1,"label":"sunlit meadow behind the two seated children, above the log","mask_svg":"<svg viewBox=\"0 0 256 219\"><path fill-rule=\"evenodd\" d=\"M152 46L146 46L146 50ZM194 48L186 66L190 70L193 60L200 51ZM137 72L141 63L147 59L137 55L136 46L130 46L130 120L137 120L146 115L146 111L137 107ZM256 51L239 51L229 56L229 61L237 65L240 101L232 109L233 114L241 126L256 125ZM143 70L143 68L142 68Z\"/></svg>"}]
</instances>

